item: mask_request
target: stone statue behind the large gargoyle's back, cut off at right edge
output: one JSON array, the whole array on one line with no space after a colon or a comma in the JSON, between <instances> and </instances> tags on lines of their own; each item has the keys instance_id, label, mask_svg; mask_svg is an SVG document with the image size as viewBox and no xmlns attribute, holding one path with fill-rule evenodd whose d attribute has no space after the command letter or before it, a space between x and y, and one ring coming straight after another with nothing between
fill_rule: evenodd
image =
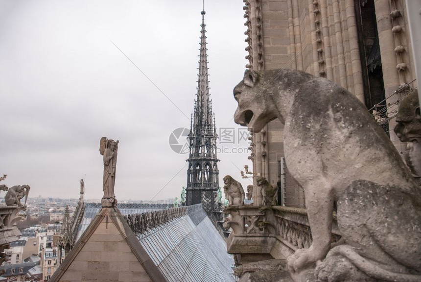
<instances>
[{"instance_id":1,"label":"stone statue behind the large gargoyle's back, cut off at right edge","mask_svg":"<svg viewBox=\"0 0 421 282\"><path fill-rule=\"evenodd\" d=\"M400 142L407 142L403 153L412 176L421 185L421 114L418 90L412 90L399 104L395 133Z\"/></svg>"}]
</instances>

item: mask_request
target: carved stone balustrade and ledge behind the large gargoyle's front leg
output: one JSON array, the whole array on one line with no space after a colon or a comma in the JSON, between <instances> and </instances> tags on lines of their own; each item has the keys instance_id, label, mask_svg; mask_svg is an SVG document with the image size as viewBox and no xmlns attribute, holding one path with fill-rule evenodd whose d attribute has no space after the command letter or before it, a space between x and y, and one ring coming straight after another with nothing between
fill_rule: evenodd
<instances>
[{"instance_id":1,"label":"carved stone balustrade and ledge behind the large gargoyle's front leg","mask_svg":"<svg viewBox=\"0 0 421 282\"><path fill-rule=\"evenodd\" d=\"M229 215L224 227L232 231L227 239L230 254L270 255L281 259L311 245L311 229L304 208L242 205L227 206L224 212ZM341 236L336 216L332 216L332 242L337 242Z\"/></svg>"}]
</instances>

